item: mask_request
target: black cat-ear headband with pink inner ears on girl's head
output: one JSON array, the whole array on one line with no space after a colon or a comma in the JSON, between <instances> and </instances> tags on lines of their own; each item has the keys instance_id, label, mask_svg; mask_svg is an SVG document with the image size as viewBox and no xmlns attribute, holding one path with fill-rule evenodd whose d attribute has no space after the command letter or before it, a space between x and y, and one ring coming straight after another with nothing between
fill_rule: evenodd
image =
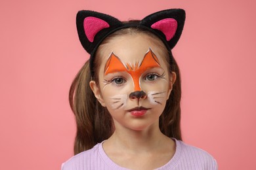
<instances>
[{"instance_id":1,"label":"black cat-ear headband with pink inner ears on girl's head","mask_svg":"<svg viewBox=\"0 0 256 170\"><path fill-rule=\"evenodd\" d=\"M184 21L185 11L182 9L161 10L146 16L139 22L121 22L108 14L81 10L77 13L76 25L83 48L91 54L90 69L93 76L95 52L111 33L127 27L144 29L157 35L170 51L181 37Z\"/></svg>"}]
</instances>

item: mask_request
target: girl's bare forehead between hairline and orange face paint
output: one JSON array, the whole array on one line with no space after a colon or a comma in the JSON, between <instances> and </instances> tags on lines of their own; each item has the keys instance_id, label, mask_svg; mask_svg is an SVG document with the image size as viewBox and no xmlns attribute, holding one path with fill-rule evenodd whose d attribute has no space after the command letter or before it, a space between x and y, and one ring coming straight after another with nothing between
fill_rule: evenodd
<instances>
[{"instance_id":1,"label":"girl's bare forehead between hairline and orange face paint","mask_svg":"<svg viewBox=\"0 0 256 170\"><path fill-rule=\"evenodd\" d=\"M141 61L149 48L152 49L157 58L163 58L163 52L161 52L160 45L156 44L156 41L152 41L146 34L136 35L119 35L113 37L104 44L100 56L102 56L102 63L106 63L108 56L113 52L124 63L133 63Z\"/></svg>"}]
</instances>

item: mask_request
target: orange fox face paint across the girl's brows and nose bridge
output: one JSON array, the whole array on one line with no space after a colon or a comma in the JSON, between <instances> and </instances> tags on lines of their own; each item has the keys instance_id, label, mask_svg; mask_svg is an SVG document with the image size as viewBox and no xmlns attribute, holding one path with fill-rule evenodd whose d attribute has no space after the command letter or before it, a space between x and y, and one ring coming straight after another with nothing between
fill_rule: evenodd
<instances>
[{"instance_id":1,"label":"orange fox face paint across the girl's brows and nose bridge","mask_svg":"<svg viewBox=\"0 0 256 170\"><path fill-rule=\"evenodd\" d=\"M106 61L104 73L105 75L108 75L110 73L126 71L133 78L135 91L140 91L140 75L152 67L160 67L160 62L150 48L142 61L134 63L134 65L128 63L126 65L123 64L121 60L112 52L110 58L108 58L108 61Z\"/></svg>"}]
</instances>

